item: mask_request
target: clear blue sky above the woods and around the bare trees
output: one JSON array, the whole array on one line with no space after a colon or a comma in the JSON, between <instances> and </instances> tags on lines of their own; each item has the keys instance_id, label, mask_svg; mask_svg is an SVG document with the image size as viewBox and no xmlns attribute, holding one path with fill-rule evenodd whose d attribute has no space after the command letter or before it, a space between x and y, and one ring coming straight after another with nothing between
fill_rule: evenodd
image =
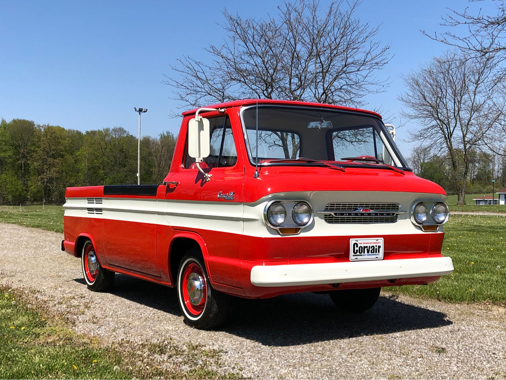
<instances>
[{"instance_id":1,"label":"clear blue sky above the woods and around the bare trees","mask_svg":"<svg viewBox=\"0 0 506 380\"><path fill-rule=\"evenodd\" d=\"M162 84L170 65L183 55L205 59L202 48L219 45L226 34L224 8L242 17L274 15L279 2L168 1L2 1L0 3L0 117L81 131L121 126L137 135L134 106L148 108L142 134L177 133L180 119L171 88ZM321 0L322 7L328 2ZM370 96L368 108L382 106L394 116L402 105L402 73L416 69L445 46L420 33L440 31L447 8L480 7L494 12L489 0L363 0L357 16L381 26L377 38L394 55L380 78L386 92ZM406 125L398 139L413 128ZM405 156L410 144L400 142Z\"/></svg>"}]
</instances>

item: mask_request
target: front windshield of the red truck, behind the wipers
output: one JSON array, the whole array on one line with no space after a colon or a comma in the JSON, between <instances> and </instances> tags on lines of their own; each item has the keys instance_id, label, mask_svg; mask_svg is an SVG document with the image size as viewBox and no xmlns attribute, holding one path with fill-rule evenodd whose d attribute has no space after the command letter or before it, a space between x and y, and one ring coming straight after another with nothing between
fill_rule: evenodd
<instances>
[{"instance_id":1,"label":"front windshield of the red truck, behind the wipers","mask_svg":"<svg viewBox=\"0 0 506 380\"><path fill-rule=\"evenodd\" d=\"M258 160L311 159L346 162L369 156L406 168L381 120L358 113L295 107L258 107ZM256 160L257 107L242 111L251 163ZM365 160L363 160L365 162ZM369 161L370 163L371 161Z\"/></svg>"}]
</instances>

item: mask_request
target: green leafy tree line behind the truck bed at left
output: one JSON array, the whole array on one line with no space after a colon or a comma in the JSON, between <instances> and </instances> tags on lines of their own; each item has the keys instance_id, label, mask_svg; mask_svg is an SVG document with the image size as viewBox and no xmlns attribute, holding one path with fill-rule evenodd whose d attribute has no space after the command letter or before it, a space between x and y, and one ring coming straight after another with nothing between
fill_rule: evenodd
<instances>
[{"instance_id":1,"label":"green leafy tree line behind the truck bed at left","mask_svg":"<svg viewBox=\"0 0 506 380\"><path fill-rule=\"evenodd\" d=\"M0 204L61 204L68 186L137 183L137 137L121 127L80 132L13 119L0 122ZM141 183L160 183L176 136L141 139Z\"/></svg>"}]
</instances>

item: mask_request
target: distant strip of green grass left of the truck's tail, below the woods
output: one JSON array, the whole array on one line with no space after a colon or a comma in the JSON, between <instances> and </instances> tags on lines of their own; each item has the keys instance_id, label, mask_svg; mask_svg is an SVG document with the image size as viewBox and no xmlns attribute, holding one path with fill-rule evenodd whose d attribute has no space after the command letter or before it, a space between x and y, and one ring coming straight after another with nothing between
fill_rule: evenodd
<instances>
[{"instance_id":1,"label":"distant strip of green grass left of the truck's tail, below the woods","mask_svg":"<svg viewBox=\"0 0 506 380\"><path fill-rule=\"evenodd\" d=\"M0 222L63 233L63 207L0 206Z\"/></svg>"}]
</instances>

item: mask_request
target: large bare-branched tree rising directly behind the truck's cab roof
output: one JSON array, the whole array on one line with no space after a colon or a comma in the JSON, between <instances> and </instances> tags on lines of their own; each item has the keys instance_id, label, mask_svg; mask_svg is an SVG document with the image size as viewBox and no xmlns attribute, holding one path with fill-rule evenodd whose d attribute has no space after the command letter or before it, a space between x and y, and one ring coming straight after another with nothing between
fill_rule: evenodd
<instances>
[{"instance_id":1,"label":"large bare-branched tree rising directly behind the truck's cab roof","mask_svg":"<svg viewBox=\"0 0 506 380\"><path fill-rule=\"evenodd\" d=\"M182 107L243 98L363 105L388 85L376 74L390 45L375 41L378 26L360 22L358 5L338 0L321 10L316 0L301 0L260 20L225 10L224 44L204 49L207 63L179 59L164 83Z\"/></svg>"}]
</instances>

